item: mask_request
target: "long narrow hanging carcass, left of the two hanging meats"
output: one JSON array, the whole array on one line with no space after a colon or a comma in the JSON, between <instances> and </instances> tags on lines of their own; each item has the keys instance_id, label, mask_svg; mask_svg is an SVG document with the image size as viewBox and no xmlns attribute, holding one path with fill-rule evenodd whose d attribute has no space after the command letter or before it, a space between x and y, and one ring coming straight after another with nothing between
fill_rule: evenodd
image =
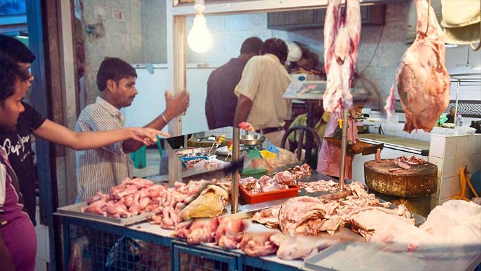
<instances>
[{"instance_id":1,"label":"long narrow hanging carcass, left of the two hanging meats","mask_svg":"<svg viewBox=\"0 0 481 271\"><path fill-rule=\"evenodd\" d=\"M324 93L324 110L337 112L353 105L350 88L356 67L357 49L361 36L361 11L359 0L331 0L324 23L324 62L327 85Z\"/></svg>"}]
</instances>

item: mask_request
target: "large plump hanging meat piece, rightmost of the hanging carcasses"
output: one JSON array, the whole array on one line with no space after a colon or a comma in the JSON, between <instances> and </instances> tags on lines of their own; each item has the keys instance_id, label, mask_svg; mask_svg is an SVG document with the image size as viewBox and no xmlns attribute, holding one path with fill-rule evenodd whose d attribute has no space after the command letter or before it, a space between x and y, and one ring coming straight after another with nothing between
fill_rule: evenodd
<instances>
[{"instance_id":1,"label":"large plump hanging meat piece, rightmost of the hanging carcasses","mask_svg":"<svg viewBox=\"0 0 481 271\"><path fill-rule=\"evenodd\" d=\"M396 73L396 82L406 115L404 130L411 132L423 129L430 132L439 115L446 110L450 99L445 38L436 19L436 12L429 7L427 1L415 0L414 3L418 18L416 40L403 56Z\"/></svg>"}]
</instances>

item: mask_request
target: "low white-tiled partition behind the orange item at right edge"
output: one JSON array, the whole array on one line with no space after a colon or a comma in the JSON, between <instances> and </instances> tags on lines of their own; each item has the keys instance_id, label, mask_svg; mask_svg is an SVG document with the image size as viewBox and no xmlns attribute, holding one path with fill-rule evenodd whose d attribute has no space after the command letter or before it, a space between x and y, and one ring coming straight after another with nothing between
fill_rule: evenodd
<instances>
[{"instance_id":1,"label":"low white-tiled partition behind the orange item at right edge","mask_svg":"<svg viewBox=\"0 0 481 271\"><path fill-rule=\"evenodd\" d=\"M460 171L463 167L467 166L471 174L481 170L481 134L432 134L429 162L438 166L438 189L433 195L434 207L460 192Z\"/></svg>"}]
</instances>

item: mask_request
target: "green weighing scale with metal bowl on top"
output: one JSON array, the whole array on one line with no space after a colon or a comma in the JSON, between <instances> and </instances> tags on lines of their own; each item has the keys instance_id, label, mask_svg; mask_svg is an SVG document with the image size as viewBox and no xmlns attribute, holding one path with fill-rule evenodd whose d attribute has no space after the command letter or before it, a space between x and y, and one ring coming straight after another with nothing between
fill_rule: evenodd
<instances>
[{"instance_id":1,"label":"green weighing scale with metal bowl on top","mask_svg":"<svg viewBox=\"0 0 481 271\"><path fill-rule=\"evenodd\" d=\"M258 176L265 175L267 170L264 167L262 155L258 147L264 143L265 137L260 134L247 134L240 137L240 143L247 147L247 157L244 160L244 169L242 176ZM246 164L249 163L249 164Z\"/></svg>"}]
</instances>

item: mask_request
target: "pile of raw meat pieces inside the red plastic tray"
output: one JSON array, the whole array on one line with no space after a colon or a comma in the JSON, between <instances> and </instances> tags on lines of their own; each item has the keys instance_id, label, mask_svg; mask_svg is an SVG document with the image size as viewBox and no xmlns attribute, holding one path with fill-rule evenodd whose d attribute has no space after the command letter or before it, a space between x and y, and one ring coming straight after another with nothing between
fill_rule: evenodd
<instances>
[{"instance_id":1,"label":"pile of raw meat pieces inside the red plastic tray","mask_svg":"<svg viewBox=\"0 0 481 271\"><path fill-rule=\"evenodd\" d=\"M297 185L297 183L290 172L284 171L279 172L273 178L267 175L260 177L258 180L254 177L241 178L239 185L247 190L247 193L255 195L258 193L288 189L289 187Z\"/></svg>"}]
</instances>

